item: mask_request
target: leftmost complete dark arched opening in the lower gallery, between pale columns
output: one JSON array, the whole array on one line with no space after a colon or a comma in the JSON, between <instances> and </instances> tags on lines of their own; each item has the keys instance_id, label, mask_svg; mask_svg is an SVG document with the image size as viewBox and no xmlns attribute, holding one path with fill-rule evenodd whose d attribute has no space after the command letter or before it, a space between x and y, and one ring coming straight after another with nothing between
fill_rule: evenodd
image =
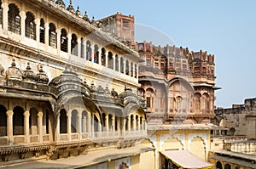
<instances>
[{"instance_id":1,"label":"leftmost complete dark arched opening in the lower gallery, between pale columns","mask_svg":"<svg viewBox=\"0 0 256 169\"><path fill-rule=\"evenodd\" d=\"M13 132L14 135L24 135L24 110L20 106L14 109Z\"/></svg>"}]
</instances>

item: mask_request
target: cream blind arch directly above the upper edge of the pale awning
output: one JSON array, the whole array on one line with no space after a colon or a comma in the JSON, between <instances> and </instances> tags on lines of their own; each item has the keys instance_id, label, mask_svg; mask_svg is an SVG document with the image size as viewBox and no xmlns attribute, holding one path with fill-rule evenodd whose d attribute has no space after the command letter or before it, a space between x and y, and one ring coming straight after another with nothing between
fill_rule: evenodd
<instances>
[{"instance_id":1,"label":"cream blind arch directly above the upper edge of the pale awning","mask_svg":"<svg viewBox=\"0 0 256 169\"><path fill-rule=\"evenodd\" d=\"M178 138L168 138L162 145L162 150L177 150L183 149L183 144Z\"/></svg>"}]
</instances>

